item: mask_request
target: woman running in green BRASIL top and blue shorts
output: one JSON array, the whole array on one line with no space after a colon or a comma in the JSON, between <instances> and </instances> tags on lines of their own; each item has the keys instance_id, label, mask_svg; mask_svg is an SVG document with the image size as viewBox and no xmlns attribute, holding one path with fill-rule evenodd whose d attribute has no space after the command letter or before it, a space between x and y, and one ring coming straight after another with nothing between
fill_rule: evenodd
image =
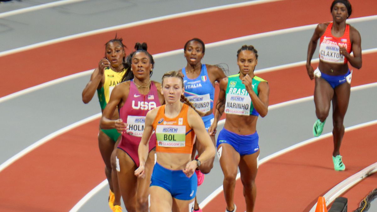
<instances>
[{"instance_id":1,"label":"woman running in green BRASIL top and blue shorts","mask_svg":"<svg viewBox=\"0 0 377 212\"><path fill-rule=\"evenodd\" d=\"M224 128L217 138L218 157L224 173L225 212L236 211L234 187L237 168L241 172L244 186L246 211L254 210L256 198L255 177L258 169L258 116L268 112L269 87L267 81L254 75L258 63L254 46L244 45L237 51L239 74L220 81L220 92L216 104L215 121L209 131L216 129L222 112L227 114Z\"/></svg>"}]
</instances>

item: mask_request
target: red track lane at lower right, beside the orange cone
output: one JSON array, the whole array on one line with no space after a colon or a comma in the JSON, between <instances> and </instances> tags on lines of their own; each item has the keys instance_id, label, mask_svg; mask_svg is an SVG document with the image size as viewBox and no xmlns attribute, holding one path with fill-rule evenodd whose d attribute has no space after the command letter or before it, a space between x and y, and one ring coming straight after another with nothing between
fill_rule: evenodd
<instances>
[{"instance_id":1,"label":"red track lane at lower right, beside the orange cone","mask_svg":"<svg viewBox=\"0 0 377 212\"><path fill-rule=\"evenodd\" d=\"M254 210L308 212L319 196L376 162L376 126L374 124L345 133L341 149L345 156L344 172L333 169L333 137L294 149L262 164L256 178L257 198ZM236 183L234 203L240 211L246 210L241 180ZM203 211L223 211L225 207L224 194L221 193Z\"/></svg>"}]
</instances>

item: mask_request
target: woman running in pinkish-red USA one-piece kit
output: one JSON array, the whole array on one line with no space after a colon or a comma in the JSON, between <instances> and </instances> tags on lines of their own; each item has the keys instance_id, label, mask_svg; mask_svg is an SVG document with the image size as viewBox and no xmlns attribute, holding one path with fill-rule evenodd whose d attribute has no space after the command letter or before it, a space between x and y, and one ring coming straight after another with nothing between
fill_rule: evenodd
<instances>
[{"instance_id":1,"label":"woman running in pinkish-red USA one-piece kit","mask_svg":"<svg viewBox=\"0 0 377 212\"><path fill-rule=\"evenodd\" d=\"M148 188L155 160L155 134L149 142L146 177L138 179L134 171L139 166L138 147L144 131L145 116L148 111L160 106L164 97L161 94L161 84L150 80L154 61L146 51L146 44L136 43L135 49L137 51L128 57L131 72L124 76L125 80L132 80L124 81L113 89L101 118L101 128L116 128L122 134L116 151L116 170L127 211L147 212ZM112 120L110 114L116 106L120 108L120 118Z\"/></svg>"}]
</instances>

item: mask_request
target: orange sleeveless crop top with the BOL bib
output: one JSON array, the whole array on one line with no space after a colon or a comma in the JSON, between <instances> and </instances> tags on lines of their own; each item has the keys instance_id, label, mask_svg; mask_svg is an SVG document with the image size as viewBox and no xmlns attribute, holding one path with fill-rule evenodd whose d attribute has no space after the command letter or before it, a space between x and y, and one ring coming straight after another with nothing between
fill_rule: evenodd
<instances>
[{"instance_id":1,"label":"orange sleeveless crop top with the BOL bib","mask_svg":"<svg viewBox=\"0 0 377 212\"><path fill-rule=\"evenodd\" d=\"M156 152L191 154L195 133L187 121L189 106L183 104L175 118L165 116L165 106L160 106L152 124L157 137Z\"/></svg>"}]
</instances>

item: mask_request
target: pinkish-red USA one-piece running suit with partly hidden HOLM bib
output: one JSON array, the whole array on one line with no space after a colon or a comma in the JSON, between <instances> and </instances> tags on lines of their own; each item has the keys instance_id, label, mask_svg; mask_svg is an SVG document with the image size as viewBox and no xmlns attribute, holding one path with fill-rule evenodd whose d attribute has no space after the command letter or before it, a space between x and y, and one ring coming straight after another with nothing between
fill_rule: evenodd
<instances>
[{"instance_id":1,"label":"pinkish-red USA one-piece running suit with partly hidden HOLM bib","mask_svg":"<svg viewBox=\"0 0 377 212\"><path fill-rule=\"evenodd\" d=\"M122 140L118 148L125 151L136 166L139 166L138 149L141 136L144 132L145 116L153 108L160 106L158 91L155 83L150 83L149 93L140 94L133 80L130 81L130 92L123 107L119 110L119 116L128 124L126 132L122 133ZM156 146L156 134L153 132L149 140L149 152Z\"/></svg>"}]
</instances>

